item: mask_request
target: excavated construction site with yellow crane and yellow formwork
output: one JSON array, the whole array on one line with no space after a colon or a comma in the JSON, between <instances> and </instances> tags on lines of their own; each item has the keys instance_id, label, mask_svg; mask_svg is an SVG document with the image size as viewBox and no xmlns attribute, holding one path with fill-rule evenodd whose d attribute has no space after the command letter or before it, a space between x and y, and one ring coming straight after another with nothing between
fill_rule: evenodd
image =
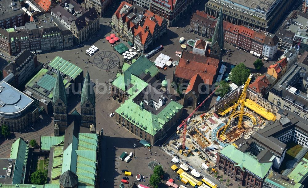
<instances>
[{"instance_id":1,"label":"excavated construction site with yellow crane and yellow formwork","mask_svg":"<svg viewBox=\"0 0 308 188\"><path fill-rule=\"evenodd\" d=\"M185 158L197 155L199 165L209 160L216 162L218 150L228 144L238 147L243 139L248 139L269 121L275 121L276 116L273 113L246 98L251 78L252 75L238 90L239 97L217 109L216 113L212 108L204 114L193 115L193 112L188 116L178 127L177 137L169 140L168 146L180 150L179 155L184 154Z\"/></svg>"}]
</instances>

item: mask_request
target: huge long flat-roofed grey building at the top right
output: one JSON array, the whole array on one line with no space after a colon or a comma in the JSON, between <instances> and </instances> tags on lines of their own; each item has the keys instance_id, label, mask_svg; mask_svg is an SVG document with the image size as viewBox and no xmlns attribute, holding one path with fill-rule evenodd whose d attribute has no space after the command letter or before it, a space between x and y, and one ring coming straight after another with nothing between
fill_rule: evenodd
<instances>
[{"instance_id":1,"label":"huge long flat-roofed grey building at the top right","mask_svg":"<svg viewBox=\"0 0 308 188\"><path fill-rule=\"evenodd\" d=\"M223 19L236 25L246 25L262 31L271 32L279 25L284 14L288 14L295 1L271 0L268 3L250 3L248 1L209 0L205 13L218 17L221 7Z\"/></svg>"}]
</instances>

